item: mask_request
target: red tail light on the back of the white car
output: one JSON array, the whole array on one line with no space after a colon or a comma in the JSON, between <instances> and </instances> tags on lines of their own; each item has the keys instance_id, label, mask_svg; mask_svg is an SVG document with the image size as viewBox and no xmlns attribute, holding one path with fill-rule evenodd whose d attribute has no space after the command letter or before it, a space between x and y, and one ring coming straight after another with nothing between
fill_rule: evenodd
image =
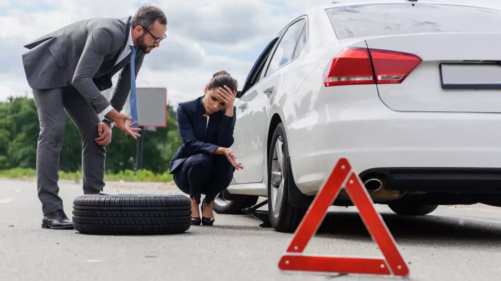
<instances>
[{"instance_id":1,"label":"red tail light on the back of the white car","mask_svg":"<svg viewBox=\"0 0 501 281\"><path fill-rule=\"evenodd\" d=\"M401 83L421 61L421 58L410 53L347 47L332 60L324 84L329 87Z\"/></svg>"}]
</instances>

